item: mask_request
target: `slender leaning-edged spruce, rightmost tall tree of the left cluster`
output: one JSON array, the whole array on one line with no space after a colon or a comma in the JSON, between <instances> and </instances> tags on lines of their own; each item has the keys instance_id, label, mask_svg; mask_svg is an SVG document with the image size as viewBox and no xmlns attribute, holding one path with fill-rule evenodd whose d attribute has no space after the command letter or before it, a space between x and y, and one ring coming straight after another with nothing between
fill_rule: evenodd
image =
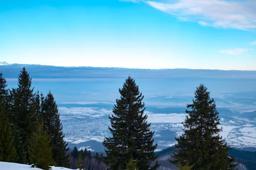
<instances>
[{"instance_id":1,"label":"slender leaning-edged spruce, rightmost tall tree of the left cluster","mask_svg":"<svg viewBox=\"0 0 256 170\"><path fill-rule=\"evenodd\" d=\"M47 130L52 138L52 158L58 167L69 167L70 156L66 154L69 148L64 140L62 125L58 107L51 92L47 94L42 102L42 115L44 119L44 130Z\"/></svg>"}]
</instances>

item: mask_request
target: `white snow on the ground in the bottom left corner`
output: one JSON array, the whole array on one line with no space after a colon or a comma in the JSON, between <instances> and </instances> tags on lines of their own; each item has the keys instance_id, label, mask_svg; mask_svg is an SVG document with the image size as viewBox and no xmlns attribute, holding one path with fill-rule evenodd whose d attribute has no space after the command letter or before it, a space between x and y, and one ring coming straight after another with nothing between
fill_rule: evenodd
<instances>
[{"instance_id":1,"label":"white snow on the ground in the bottom left corner","mask_svg":"<svg viewBox=\"0 0 256 170\"><path fill-rule=\"evenodd\" d=\"M17 163L11 163L11 162L1 162L1 161L0 161L0 169L1 170L42 170L39 168L32 168L31 165L17 164ZM52 167L52 170L71 170L71 169L63 168L63 167Z\"/></svg>"}]
</instances>

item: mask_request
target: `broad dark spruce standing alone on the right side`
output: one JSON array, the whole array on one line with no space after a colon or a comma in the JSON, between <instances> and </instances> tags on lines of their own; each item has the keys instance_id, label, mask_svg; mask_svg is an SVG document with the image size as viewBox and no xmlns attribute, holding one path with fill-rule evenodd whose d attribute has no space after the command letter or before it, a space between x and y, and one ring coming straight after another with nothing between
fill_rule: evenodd
<instances>
[{"instance_id":1,"label":"broad dark spruce standing alone on the right side","mask_svg":"<svg viewBox=\"0 0 256 170\"><path fill-rule=\"evenodd\" d=\"M236 166L227 153L232 148L219 136L220 119L209 94L202 84L196 88L195 99L187 105L184 132L176 138L177 150L172 155L175 160L170 162L180 166L193 164L195 170L227 170Z\"/></svg>"}]
</instances>

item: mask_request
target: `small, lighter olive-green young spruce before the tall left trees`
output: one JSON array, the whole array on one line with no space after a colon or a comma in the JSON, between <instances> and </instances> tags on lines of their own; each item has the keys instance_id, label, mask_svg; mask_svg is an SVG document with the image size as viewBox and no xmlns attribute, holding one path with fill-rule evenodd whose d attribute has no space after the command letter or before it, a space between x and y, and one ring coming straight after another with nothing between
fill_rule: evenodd
<instances>
[{"instance_id":1,"label":"small, lighter olive-green young spruce before the tall left trees","mask_svg":"<svg viewBox=\"0 0 256 170\"><path fill-rule=\"evenodd\" d=\"M38 125L38 129L33 133L29 142L29 159L32 167L49 170L52 161L52 146L49 134L43 129L43 125Z\"/></svg>"}]
</instances>

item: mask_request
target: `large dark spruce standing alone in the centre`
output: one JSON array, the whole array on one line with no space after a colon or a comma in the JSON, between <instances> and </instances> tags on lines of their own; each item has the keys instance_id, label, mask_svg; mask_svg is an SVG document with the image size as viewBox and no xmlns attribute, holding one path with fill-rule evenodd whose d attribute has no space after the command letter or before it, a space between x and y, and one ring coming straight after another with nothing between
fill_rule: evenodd
<instances>
[{"instance_id":1,"label":"large dark spruce standing alone in the centre","mask_svg":"<svg viewBox=\"0 0 256 170\"><path fill-rule=\"evenodd\" d=\"M104 161L111 170L124 170L125 162L132 156L137 160L139 170L155 170L158 162L153 167L150 163L157 158L154 156L157 144L153 144L154 132L150 131L148 116L144 114L144 96L130 76L125 79L122 89L119 88L119 93L121 97L116 99L113 114L109 116L111 127L108 128L112 136L103 142L107 148Z\"/></svg>"}]
</instances>

